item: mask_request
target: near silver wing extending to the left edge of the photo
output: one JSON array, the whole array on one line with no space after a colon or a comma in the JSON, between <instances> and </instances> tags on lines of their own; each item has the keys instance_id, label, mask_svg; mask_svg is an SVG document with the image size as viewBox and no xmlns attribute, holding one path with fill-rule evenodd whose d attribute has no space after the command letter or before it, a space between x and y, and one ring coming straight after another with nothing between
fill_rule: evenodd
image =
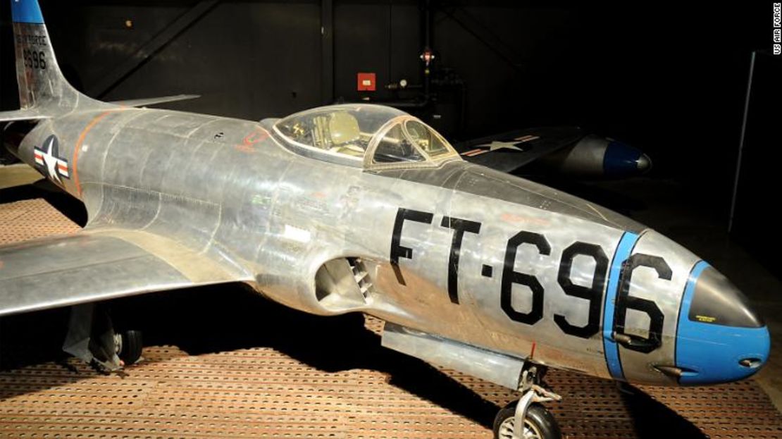
<instances>
[{"instance_id":1,"label":"near silver wing extending to the left edge of the photo","mask_svg":"<svg viewBox=\"0 0 782 439\"><path fill-rule=\"evenodd\" d=\"M85 229L0 246L0 315L251 279L227 257L163 236Z\"/></svg>"}]
</instances>

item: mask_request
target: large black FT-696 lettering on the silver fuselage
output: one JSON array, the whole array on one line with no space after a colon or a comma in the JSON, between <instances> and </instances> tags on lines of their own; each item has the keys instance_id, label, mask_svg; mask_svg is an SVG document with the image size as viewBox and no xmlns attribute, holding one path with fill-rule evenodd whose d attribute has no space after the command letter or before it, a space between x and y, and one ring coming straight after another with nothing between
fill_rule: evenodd
<instances>
[{"instance_id":1,"label":"large black FT-696 lettering on the silver fuselage","mask_svg":"<svg viewBox=\"0 0 782 439\"><path fill-rule=\"evenodd\" d=\"M399 208L396 211L396 219L393 225L393 236L391 238L390 262L393 268L396 280L400 285L407 285L404 276L399 267L400 257L412 259L413 249L403 246L400 243L402 229L405 221L415 221L422 224L431 225L434 214L425 211L416 211L413 209ZM465 232L479 234L481 223L479 221L470 221L463 218L452 218L443 216L440 225L444 228L453 230L450 243L450 252L448 254L448 297L451 303L459 304L458 279L459 279L459 261L461 257L461 245L465 237ZM502 279L500 280L500 308L508 318L514 322L526 325L534 325L543 318L544 295L546 291L543 285L535 275L515 271L516 255L518 247L524 244L536 246L538 254L545 256L551 255L551 244L545 236L536 232L521 231L508 239L505 247L504 263L502 269ZM572 264L579 255L591 257L595 262L592 282L590 286L580 286L572 282ZM576 241L562 250L559 261L557 281L566 297L577 297L581 300L588 300L587 324L585 326L575 326L568 321L565 315L554 314L554 322L563 333L588 339L600 332L601 312L604 298L606 279L608 277L609 259L603 248L597 244L583 243ZM642 299L640 297L630 296L630 285L632 283L633 271L638 267L654 268L660 279L670 280L672 271L665 259L648 254L633 254L626 261L622 262L622 271L619 276L619 291L616 296L614 310L614 326L612 330L616 334L622 334L622 345L633 351L649 353L655 351L662 345L662 328L665 322L665 315L654 300ZM481 275L485 278L492 277L492 266L489 264L481 265ZM513 308L512 290L514 285L526 286L532 293L532 307L529 312L518 311ZM582 302L583 303L583 302ZM648 337L624 334L625 320L628 309L634 309L646 313L650 319ZM572 317L572 316L571 316Z\"/></svg>"}]
</instances>

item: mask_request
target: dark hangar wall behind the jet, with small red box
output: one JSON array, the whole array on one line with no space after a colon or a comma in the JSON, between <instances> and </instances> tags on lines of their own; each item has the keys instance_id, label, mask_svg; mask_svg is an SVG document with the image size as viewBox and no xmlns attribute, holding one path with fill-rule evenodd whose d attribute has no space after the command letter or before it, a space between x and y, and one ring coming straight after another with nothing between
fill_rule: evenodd
<instances>
[{"instance_id":1,"label":"dark hangar wall behind the jet, with small red box","mask_svg":"<svg viewBox=\"0 0 782 439\"><path fill-rule=\"evenodd\" d=\"M9 110L17 106L13 41L8 1L0 4L0 105ZM384 86L422 83L424 2L41 0L41 7L66 75L102 99L197 93L170 106L249 119L335 101L420 99L420 90ZM770 49L771 2L432 0L431 7L432 77L446 85L436 103L412 112L450 139L578 124L644 149L655 176L686 182L726 218L750 53ZM762 57L766 71L780 72L778 57ZM377 74L378 91L357 92L357 72ZM779 102L776 78L756 83L762 105ZM755 124L769 132L779 114ZM780 146L762 134L748 148L769 163Z\"/></svg>"}]
</instances>

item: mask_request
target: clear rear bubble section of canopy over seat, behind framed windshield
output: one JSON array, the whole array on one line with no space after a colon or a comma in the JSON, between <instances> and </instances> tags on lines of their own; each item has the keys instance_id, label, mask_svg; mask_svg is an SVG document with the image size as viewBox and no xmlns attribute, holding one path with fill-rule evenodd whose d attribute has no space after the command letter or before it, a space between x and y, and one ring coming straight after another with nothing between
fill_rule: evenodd
<instances>
[{"instance_id":1,"label":"clear rear bubble section of canopy over seat, behind framed windshield","mask_svg":"<svg viewBox=\"0 0 782 439\"><path fill-rule=\"evenodd\" d=\"M387 106L335 105L293 114L275 127L303 146L362 158L375 133L405 113Z\"/></svg>"}]
</instances>

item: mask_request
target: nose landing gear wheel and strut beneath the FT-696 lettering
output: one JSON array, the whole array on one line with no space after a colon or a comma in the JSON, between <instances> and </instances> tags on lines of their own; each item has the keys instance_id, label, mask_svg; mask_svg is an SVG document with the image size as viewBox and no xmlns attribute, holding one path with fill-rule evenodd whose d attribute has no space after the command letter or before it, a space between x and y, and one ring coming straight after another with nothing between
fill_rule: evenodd
<instances>
[{"instance_id":1,"label":"nose landing gear wheel and strut beneath the FT-696 lettering","mask_svg":"<svg viewBox=\"0 0 782 439\"><path fill-rule=\"evenodd\" d=\"M557 421L541 402L560 401L561 396L543 388L543 366L522 372L518 391L522 398L506 405L494 418L495 439L561 439Z\"/></svg>"}]
</instances>

